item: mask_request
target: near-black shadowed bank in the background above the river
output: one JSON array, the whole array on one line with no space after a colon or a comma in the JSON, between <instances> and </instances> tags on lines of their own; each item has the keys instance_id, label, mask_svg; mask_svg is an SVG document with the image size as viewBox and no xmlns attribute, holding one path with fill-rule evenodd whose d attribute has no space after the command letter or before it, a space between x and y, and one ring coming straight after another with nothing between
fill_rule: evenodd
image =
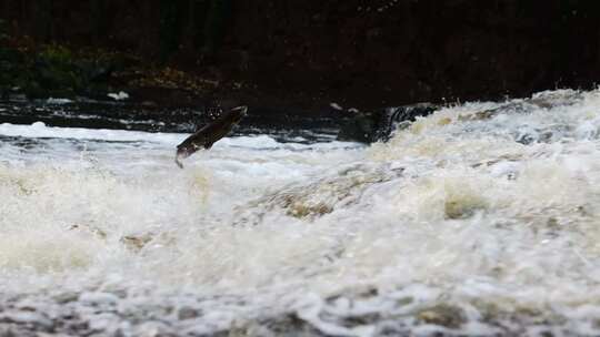
<instances>
[{"instance_id":1,"label":"near-black shadowed bank in the background above the river","mask_svg":"<svg viewBox=\"0 0 600 337\"><path fill-rule=\"evenodd\" d=\"M134 55L96 75L160 104L364 110L584 89L600 75L597 1L3 0L0 19L12 42ZM176 90L147 80L164 69L183 72L167 74L186 78Z\"/></svg>"}]
</instances>

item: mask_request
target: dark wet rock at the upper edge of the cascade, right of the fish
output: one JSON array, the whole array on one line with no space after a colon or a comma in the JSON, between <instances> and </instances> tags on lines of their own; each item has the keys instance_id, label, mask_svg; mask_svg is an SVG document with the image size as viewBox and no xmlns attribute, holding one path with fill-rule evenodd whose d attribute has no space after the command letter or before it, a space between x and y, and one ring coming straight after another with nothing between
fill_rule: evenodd
<instances>
[{"instance_id":1,"label":"dark wet rock at the upper edge of the cascade, right of the fish","mask_svg":"<svg viewBox=\"0 0 600 337\"><path fill-rule=\"evenodd\" d=\"M428 116L439 106L430 103L418 103L394 108L386 108L370 113L357 112L347 121L338 133L340 141L372 143L388 141L393 132L414 122L419 116Z\"/></svg>"}]
</instances>

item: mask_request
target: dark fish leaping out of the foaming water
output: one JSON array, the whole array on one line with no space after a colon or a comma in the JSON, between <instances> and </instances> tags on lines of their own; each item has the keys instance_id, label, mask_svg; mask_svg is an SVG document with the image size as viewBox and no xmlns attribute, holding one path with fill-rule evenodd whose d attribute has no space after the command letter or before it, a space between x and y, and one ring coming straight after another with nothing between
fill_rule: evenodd
<instances>
[{"instance_id":1,"label":"dark fish leaping out of the foaming water","mask_svg":"<svg viewBox=\"0 0 600 337\"><path fill-rule=\"evenodd\" d=\"M246 115L248 106L237 106L223 113L214 122L209 123L194 134L177 145L176 164L183 168L182 159L187 159L200 149L210 149L220 139L224 137L236 124Z\"/></svg>"}]
</instances>

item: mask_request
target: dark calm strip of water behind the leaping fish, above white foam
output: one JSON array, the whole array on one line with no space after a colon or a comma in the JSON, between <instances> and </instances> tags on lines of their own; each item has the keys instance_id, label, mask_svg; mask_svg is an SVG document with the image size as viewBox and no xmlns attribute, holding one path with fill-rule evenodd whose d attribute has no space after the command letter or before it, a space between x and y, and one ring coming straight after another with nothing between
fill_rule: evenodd
<instances>
[{"instance_id":1,"label":"dark calm strip of water behind the leaping fish, above white foam","mask_svg":"<svg viewBox=\"0 0 600 337\"><path fill-rule=\"evenodd\" d=\"M316 132L334 137L348 120L342 112L278 111L252 108L234 134L269 133L274 137ZM193 106L148 106L136 102L93 101L87 99L0 101L0 124L112 129L146 132L191 133L212 121L204 111ZM309 132L310 131L310 132ZM308 136L309 139L312 136Z\"/></svg>"}]
</instances>

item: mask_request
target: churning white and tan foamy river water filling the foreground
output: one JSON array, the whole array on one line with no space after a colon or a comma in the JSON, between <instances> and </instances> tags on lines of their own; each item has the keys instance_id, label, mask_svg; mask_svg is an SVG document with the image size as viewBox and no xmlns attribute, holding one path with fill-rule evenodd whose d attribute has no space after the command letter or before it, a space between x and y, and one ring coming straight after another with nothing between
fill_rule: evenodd
<instances>
[{"instance_id":1,"label":"churning white and tan foamy river water filling the foreground","mask_svg":"<svg viewBox=\"0 0 600 337\"><path fill-rule=\"evenodd\" d=\"M0 124L0 335L600 335L600 91L387 143Z\"/></svg>"}]
</instances>

